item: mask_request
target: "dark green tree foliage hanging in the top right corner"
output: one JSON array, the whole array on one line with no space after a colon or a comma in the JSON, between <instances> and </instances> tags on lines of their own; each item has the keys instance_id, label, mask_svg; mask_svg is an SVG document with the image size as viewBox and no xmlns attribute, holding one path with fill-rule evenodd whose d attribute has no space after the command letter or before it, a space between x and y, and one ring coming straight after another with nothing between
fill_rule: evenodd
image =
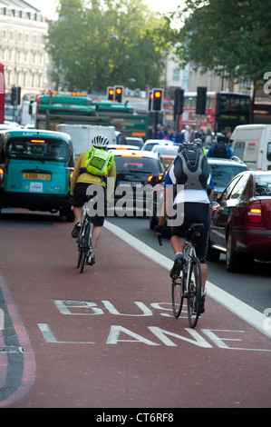
<instances>
[{"instance_id":1,"label":"dark green tree foliage hanging in the top right corner","mask_svg":"<svg viewBox=\"0 0 271 427\"><path fill-rule=\"evenodd\" d=\"M182 65L193 61L202 72L256 84L271 71L270 22L270 3L260 0L186 0L166 17L160 43L171 45Z\"/></svg>"}]
</instances>

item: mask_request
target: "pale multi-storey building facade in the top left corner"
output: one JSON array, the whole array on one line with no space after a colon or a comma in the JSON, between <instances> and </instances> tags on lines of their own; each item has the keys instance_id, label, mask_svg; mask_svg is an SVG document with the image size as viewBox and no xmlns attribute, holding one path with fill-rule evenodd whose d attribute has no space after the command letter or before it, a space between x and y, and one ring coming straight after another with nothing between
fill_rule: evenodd
<instances>
[{"instance_id":1,"label":"pale multi-storey building facade in the top left corner","mask_svg":"<svg viewBox=\"0 0 271 427\"><path fill-rule=\"evenodd\" d=\"M22 0L0 2L0 62L5 67L5 97L13 86L24 94L47 88L48 55L44 49L48 23L42 13Z\"/></svg>"}]
</instances>

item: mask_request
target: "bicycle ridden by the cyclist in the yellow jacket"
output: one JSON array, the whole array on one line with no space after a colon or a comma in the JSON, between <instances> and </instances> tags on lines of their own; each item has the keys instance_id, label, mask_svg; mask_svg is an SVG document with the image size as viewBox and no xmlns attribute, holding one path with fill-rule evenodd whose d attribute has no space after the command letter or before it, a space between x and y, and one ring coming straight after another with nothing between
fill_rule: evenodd
<instances>
[{"instance_id":1,"label":"bicycle ridden by the cyclist in the yellow jacket","mask_svg":"<svg viewBox=\"0 0 271 427\"><path fill-rule=\"evenodd\" d=\"M80 269L80 273L83 272L86 260L92 255L92 207L97 202L97 197L93 197L91 200L83 204L82 206L82 227L77 239L78 243L78 257L77 257L77 268Z\"/></svg>"}]
</instances>

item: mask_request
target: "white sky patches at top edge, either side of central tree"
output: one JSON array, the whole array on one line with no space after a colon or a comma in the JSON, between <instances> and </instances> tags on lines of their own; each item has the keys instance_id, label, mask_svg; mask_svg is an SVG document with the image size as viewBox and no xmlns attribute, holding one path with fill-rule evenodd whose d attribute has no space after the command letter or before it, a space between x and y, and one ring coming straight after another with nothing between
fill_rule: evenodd
<instances>
[{"instance_id":1,"label":"white sky patches at top edge, either side of central tree","mask_svg":"<svg viewBox=\"0 0 271 427\"><path fill-rule=\"evenodd\" d=\"M33 5L43 15L48 18L55 18L55 8L58 2L56 0L26 0L27 3ZM177 9L177 6L181 4L181 0L145 0L147 4L154 10L161 13L172 12Z\"/></svg>"}]
</instances>

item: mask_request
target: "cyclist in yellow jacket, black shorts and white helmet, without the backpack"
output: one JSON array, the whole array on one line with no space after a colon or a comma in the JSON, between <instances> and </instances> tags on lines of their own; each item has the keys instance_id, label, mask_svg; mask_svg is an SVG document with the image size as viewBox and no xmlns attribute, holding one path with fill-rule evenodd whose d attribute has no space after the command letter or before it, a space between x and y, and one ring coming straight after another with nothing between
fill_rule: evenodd
<instances>
[{"instance_id":1,"label":"cyclist in yellow jacket, black shorts and white helmet, without the backpack","mask_svg":"<svg viewBox=\"0 0 271 427\"><path fill-rule=\"evenodd\" d=\"M104 135L94 136L92 139L92 147L106 150L107 145L109 144L109 139ZM73 227L72 236L73 238L78 238L82 226L82 205L89 200L87 196L87 189L90 185L102 185L103 198L104 198L104 207L106 204L106 192L111 197L111 194L114 191L115 181L116 181L116 165L113 161L113 155L109 156L108 168L104 168L102 174L94 174L93 172L88 172L88 160L90 158L91 152L82 153L75 164L73 177L71 182L71 196L73 204L73 213L75 216L75 224ZM92 169L91 169L92 170ZM107 185L107 188L106 188ZM105 192L106 190L106 192ZM87 260L87 263L95 263L95 250L97 248L97 243L99 242L102 225L104 223L104 215L96 214L92 217L92 246L93 252L90 258Z\"/></svg>"}]
</instances>

